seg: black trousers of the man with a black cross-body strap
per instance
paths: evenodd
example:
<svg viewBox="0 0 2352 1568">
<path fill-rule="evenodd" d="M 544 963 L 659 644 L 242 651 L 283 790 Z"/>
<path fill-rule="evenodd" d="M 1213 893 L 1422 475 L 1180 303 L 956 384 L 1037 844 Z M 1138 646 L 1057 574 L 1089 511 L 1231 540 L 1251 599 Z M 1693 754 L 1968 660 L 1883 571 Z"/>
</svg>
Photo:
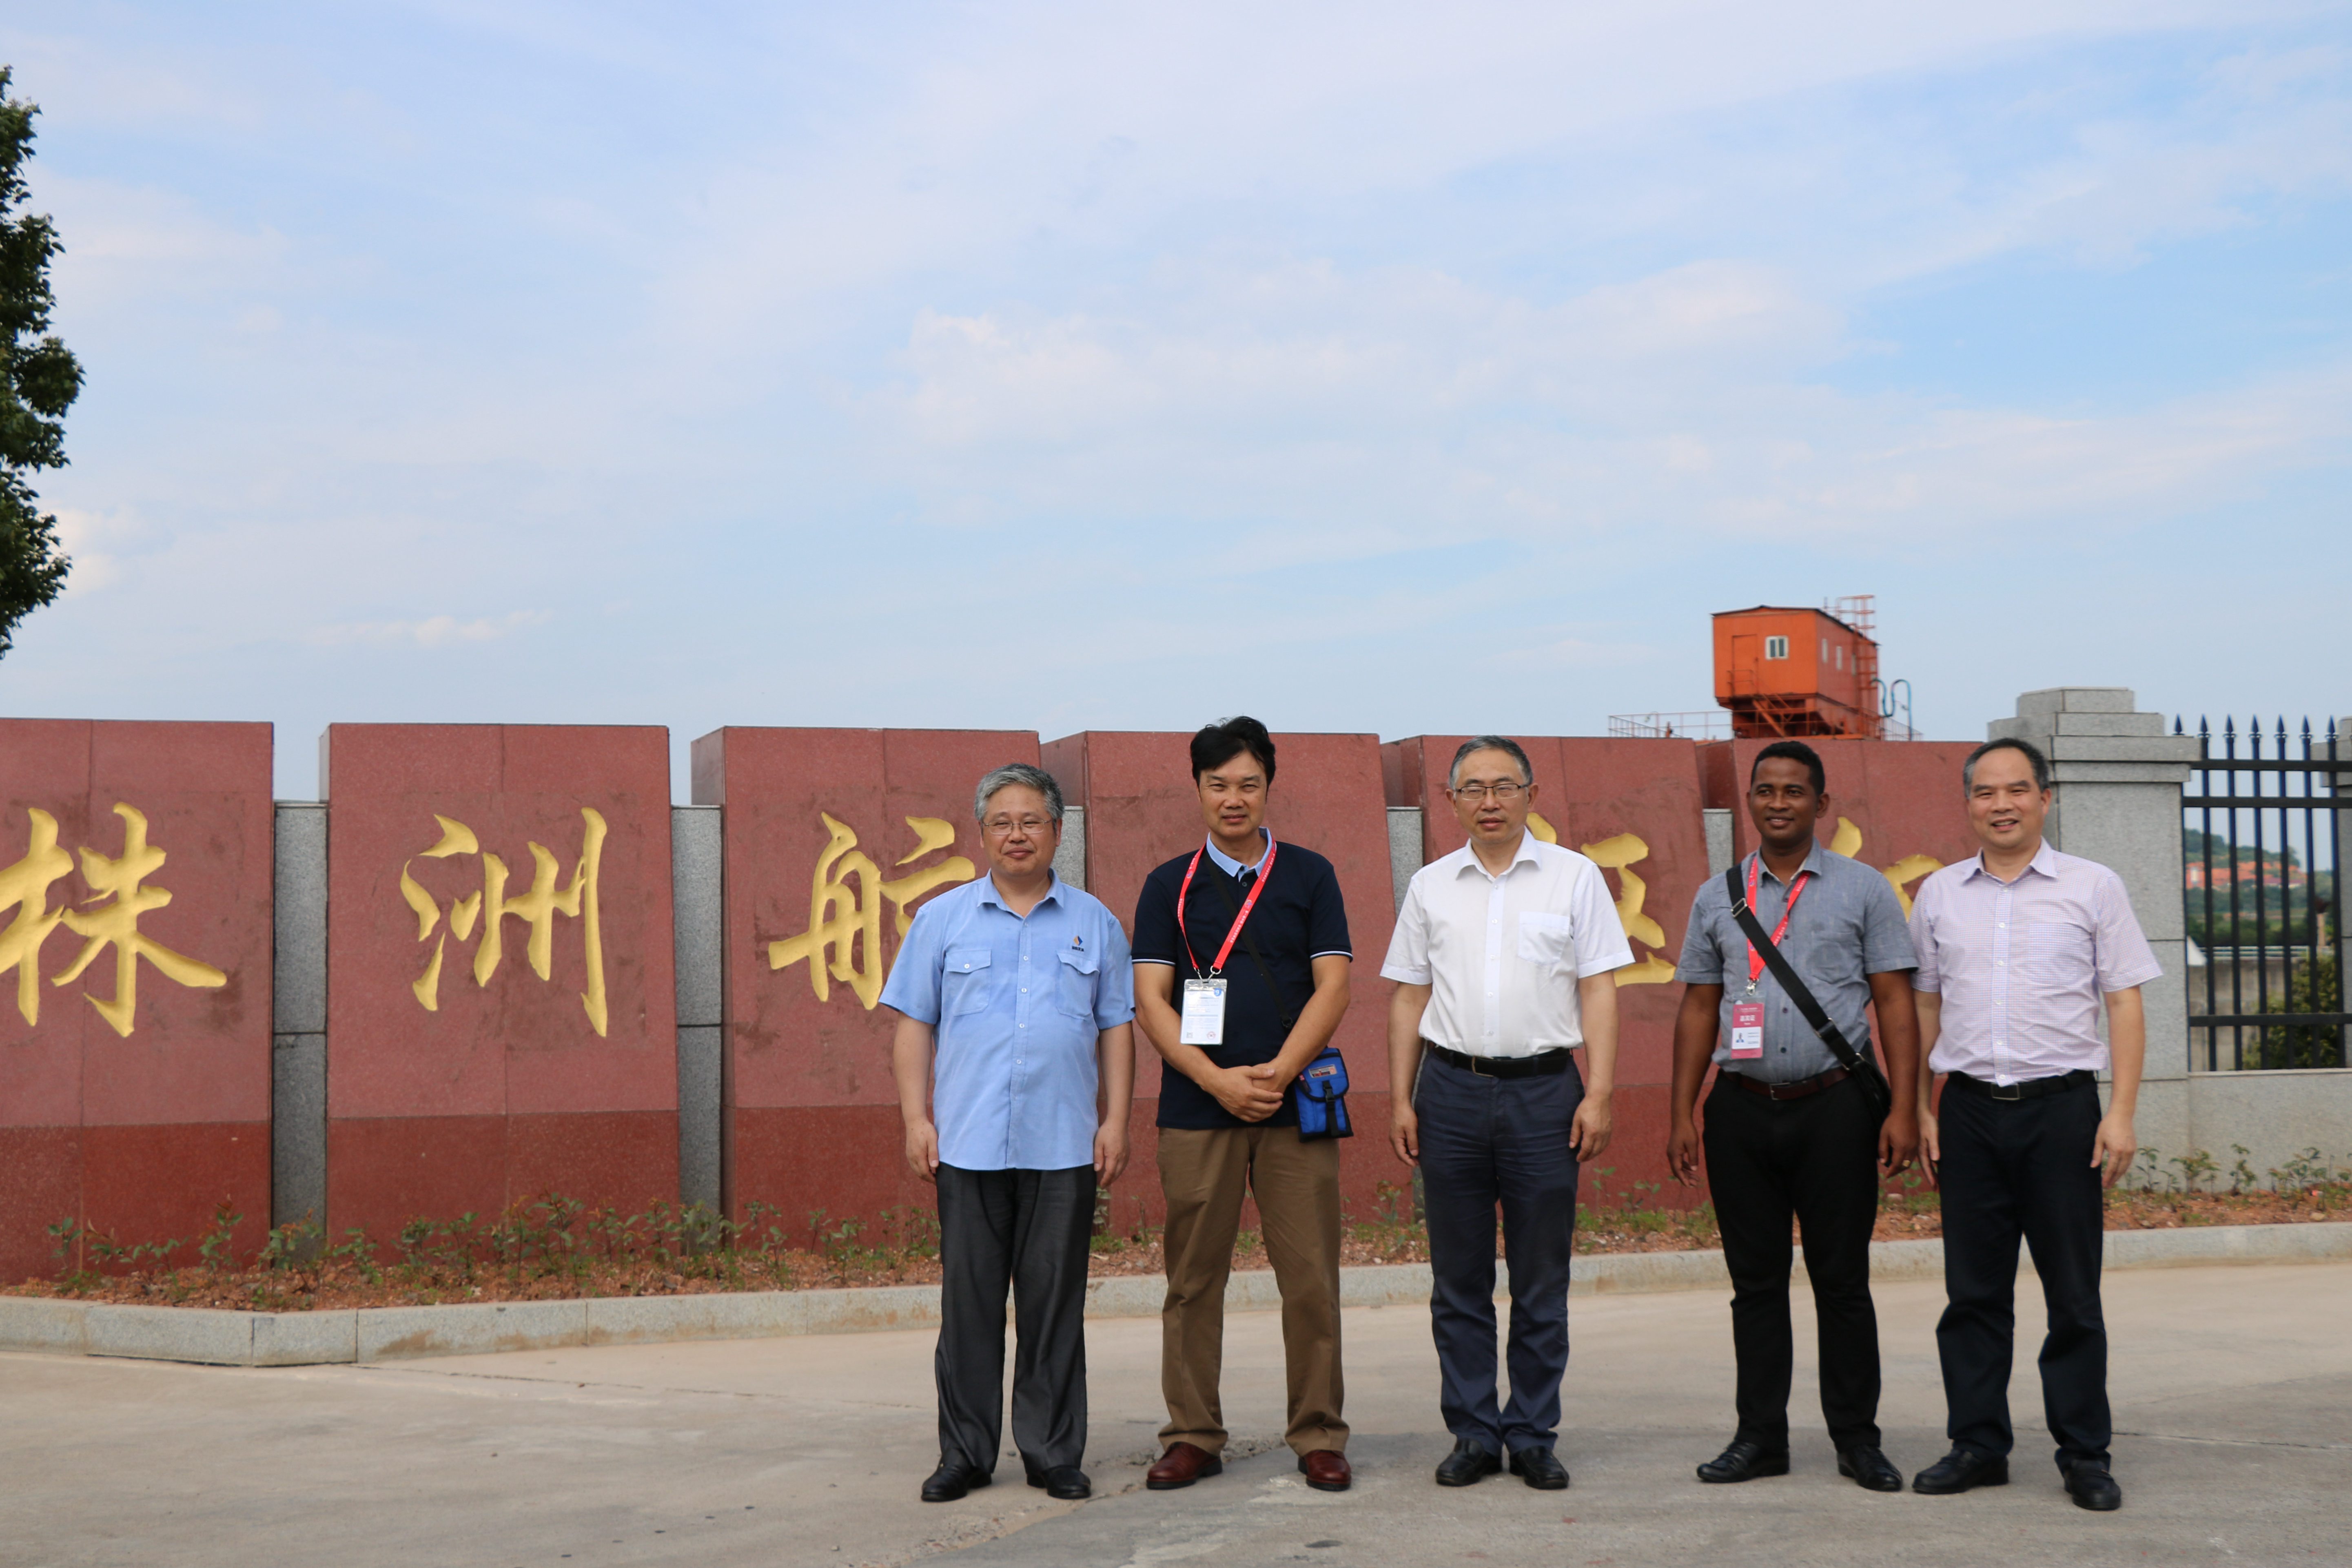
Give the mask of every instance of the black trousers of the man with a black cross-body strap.
<svg viewBox="0 0 2352 1568">
<path fill-rule="evenodd" d="M 1853 1079 L 1802 1100 L 1766 1100 L 1715 1077 L 1708 1187 L 1731 1272 L 1738 1436 L 1788 1448 L 1788 1222 L 1804 1234 L 1820 1347 L 1820 1415 L 1839 1450 L 1879 1446 L 1879 1314 L 1870 1302 L 1870 1229 L 1879 1213 L 1879 1119 Z"/>
</svg>

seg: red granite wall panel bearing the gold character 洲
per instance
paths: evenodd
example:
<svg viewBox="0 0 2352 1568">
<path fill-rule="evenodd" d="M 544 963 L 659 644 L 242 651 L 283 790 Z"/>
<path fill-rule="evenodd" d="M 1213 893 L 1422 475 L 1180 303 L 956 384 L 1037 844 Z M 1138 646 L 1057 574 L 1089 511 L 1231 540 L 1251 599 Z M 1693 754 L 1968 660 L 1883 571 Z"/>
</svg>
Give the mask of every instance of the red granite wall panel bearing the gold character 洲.
<svg viewBox="0 0 2352 1568">
<path fill-rule="evenodd" d="M 327 1225 L 677 1199 L 659 726 L 334 724 Z"/>
</svg>

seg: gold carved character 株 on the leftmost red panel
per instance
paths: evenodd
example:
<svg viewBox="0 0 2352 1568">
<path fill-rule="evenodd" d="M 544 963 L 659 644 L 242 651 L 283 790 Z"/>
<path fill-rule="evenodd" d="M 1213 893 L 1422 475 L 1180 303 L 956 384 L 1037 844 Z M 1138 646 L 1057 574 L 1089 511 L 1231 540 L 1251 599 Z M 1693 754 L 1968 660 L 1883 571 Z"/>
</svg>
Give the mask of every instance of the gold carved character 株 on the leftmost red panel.
<svg viewBox="0 0 2352 1568">
<path fill-rule="evenodd" d="M 99 1011 L 99 1018 L 115 1034 L 139 1027 L 139 961 L 146 959 L 155 973 L 174 985 L 212 990 L 228 985 L 228 976 L 212 964 L 172 952 L 139 929 L 143 914 L 153 914 L 172 903 L 172 891 L 153 886 L 148 877 L 162 870 L 165 851 L 148 844 L 148 820 L 136 806 L 115 802 L 122 818 L 122 853 L 103 856 L 82 846 L 82 882 L 94 893 L 75 910 L 66 903 L 49 905 L 49 889 L 73 870 L 73 858 L 56 846 L 56 818 L 40 809 L 26 809 L 31 818 L 31 842 L 21 860 L 0 870 L 0 910 L 16 910 L 16 917 L 0 931 L 0 973 L 16 971 L 16 1011 L 26 1023 L 40 1023 L 40 945 L 64 924 L 82 938 L 82 952 L 59 973 L 52 985 L 71 985 L 82 978 L 89 964 L 113 947 L 115 994 L 108 999 L 82 997 Z"/>
</svg>

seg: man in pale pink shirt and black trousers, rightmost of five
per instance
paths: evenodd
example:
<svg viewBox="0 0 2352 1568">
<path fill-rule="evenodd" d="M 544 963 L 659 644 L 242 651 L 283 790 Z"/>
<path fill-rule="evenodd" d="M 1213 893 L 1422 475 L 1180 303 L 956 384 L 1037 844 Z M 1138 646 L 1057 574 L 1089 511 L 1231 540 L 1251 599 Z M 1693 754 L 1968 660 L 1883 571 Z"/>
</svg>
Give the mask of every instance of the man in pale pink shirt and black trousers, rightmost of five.
<svg viewBox="0 0 2352 1568">
<path fill-rule="evenodd" d="M 1912 905 L 1919 950 L 1919 1145 L 1943 1185 L 1943 1284 L 1936 1324 L 1952 1453 L 1919 1472 L 1917 1493 L 2009 1481 L 2009 1361 L 2016 1340 L 2018 1237 L 2032 1248 L 2049 1338 L 2042 1410 L 2058 1474 L 2079 1507 L 2114 1509 L 2107 1324 L 2098 1305 L 2105 1244 L 2100 1190 L 2131 1168 L 2147 1020 L 2140 985 L 2161 971 L 2105 865 L 2042 842 L 2049 759 L 2025 741 L 1990 741 L 1962 764 L 1969 825 L 1983 851 L 1926 879 Z M 2107 1001 L 2107 1039 L 2098 1004 Z M 2112 1067 L 2100 1114 L 2098 1072 Z M 1945 1074 L 1943 1117 L 1929 1103 Z"/>
</svg>

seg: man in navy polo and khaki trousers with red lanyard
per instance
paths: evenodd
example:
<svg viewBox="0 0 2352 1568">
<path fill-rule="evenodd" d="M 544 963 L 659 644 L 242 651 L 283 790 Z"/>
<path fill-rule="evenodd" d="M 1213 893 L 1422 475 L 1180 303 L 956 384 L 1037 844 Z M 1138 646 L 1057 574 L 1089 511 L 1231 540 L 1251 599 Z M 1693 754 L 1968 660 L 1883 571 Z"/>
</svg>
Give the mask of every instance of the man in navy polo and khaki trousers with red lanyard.
<svg viewBox="0 0 2352 1568">
<path fill-rule="evenodd" d="M 1345 1490 L 1338 1371 L 1338 1143 L 1298 1135 L 1294 1079 L 1348 1011 L 1348 910 L 1331 863 L 1265 830 L 1275 743 L 1256 719 L 1192 736 L 1209 839 L 1143 882 L 1136 1020 L 1160 1051 L 1167 1307 L 1160 1387 L 1169 1425 L 1152 1490 L 1223 1469 L 1218 1375 L 1225 1276 L 1256 1194 L 1282 1288 L 1289 1446 L 1317 1490 Z"/>
</svg>

